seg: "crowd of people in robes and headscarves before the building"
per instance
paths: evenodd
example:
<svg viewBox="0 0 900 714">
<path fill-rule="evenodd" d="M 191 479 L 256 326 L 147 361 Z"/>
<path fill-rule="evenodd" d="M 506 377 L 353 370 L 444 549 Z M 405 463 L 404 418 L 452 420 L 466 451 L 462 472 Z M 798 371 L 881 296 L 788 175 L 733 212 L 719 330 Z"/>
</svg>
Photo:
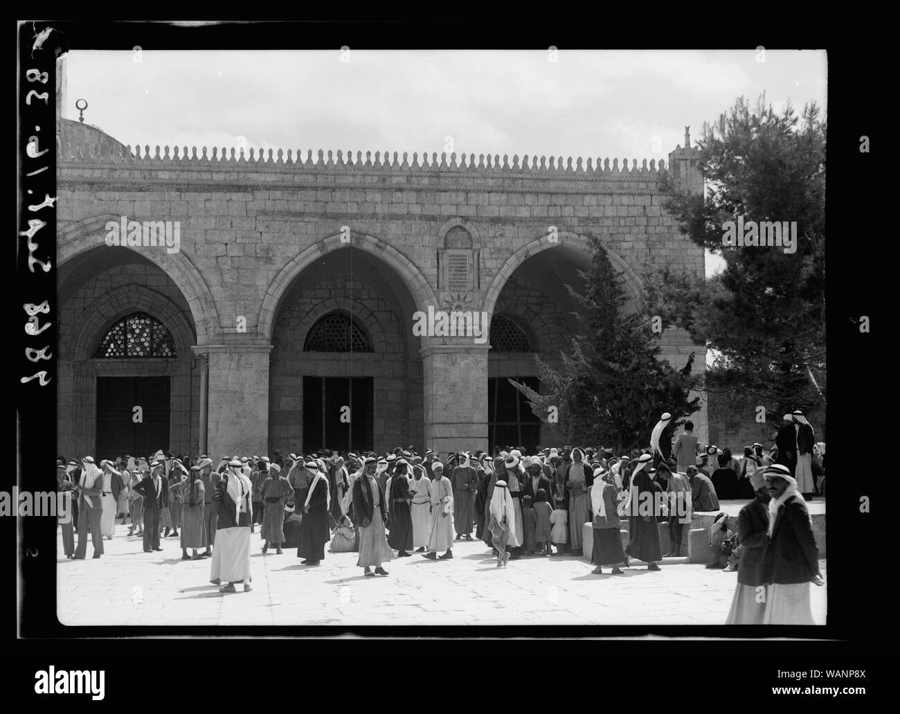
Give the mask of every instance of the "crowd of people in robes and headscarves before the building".
<svg viewBox="0 0 900 714">
<path fill-rule="evenodd" d="M 128 534 L 142 538 L 145 553 L 162 550 L 161 538 L 178 538 L 182 559 L 211 559 L 210 580 L 221 592 L 236 592 L 238 584 L 247 592 L 257 528 L 263 553 L 296 548 L 312 567 L 330 543 L 334 552 L 358 552 L 356 565 L 374 577 L 387 575 L 384 565 L 394 557 L 452 559 L 461 540 L 482 540 L 497 567 L 523 557 L 581 556 L 582 526 L 591 523 L 593 573 L 608 566 L 621 574 L 631 558 L 659 570 L 664 557 L 681 555 L 691 511 L 718 511 L 720 499 L 738 499 L 750 501 L 738 532 L 727 529 L 724 513 L 710 532 L 710 565 L 724 558 L 720 566 L 738 570 L 728 621 L 806 621 L 805 611 L 797 614 L 801 591 L 805 586 L 809 610 L 808 583 L 821 576 L 805 500 L 824 493 L 824 443 L 808 438 L 813 430 L 802 413 L 791 419 L 793 441 L 782 428 L 768 452 L 753 444 L 740 457 L 699 447 L 690 421 L 673 443 L 668 413 L 653 428 L 650 448 L 619 456 L 602 446 L 533 454 L 510 446 L 493 455 L 448 453 L 442 461 L 410 446 L 382 455 L 321 449 L 271 459 L 221 456 L 218 464 L 170 451 L 99 465 L 92 456 L 59 457 L 58 490 L 76 494 L 71 520 L 60 517 L 63 549 L 67 558 L 85 558 L 91 538 L 99 558 L 117 520 L 124 526 L 130 519 Z M 627 547 L 621 520 L 628 522 Z M 665 555 L 661 523 L 671 537 Z"/>
</svg>

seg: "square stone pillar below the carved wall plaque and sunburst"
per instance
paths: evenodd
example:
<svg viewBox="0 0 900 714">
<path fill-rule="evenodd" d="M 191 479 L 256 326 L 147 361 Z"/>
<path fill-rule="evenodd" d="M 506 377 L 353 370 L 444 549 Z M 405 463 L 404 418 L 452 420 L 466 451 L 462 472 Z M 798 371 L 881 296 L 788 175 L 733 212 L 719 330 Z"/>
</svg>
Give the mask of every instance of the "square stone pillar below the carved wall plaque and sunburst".
<svg viewBox="0 0 900 714">
<path fill-rule="evenodd" d="M 425 384 L 425 447 L 488 450 L 488 345 L 419 350 Z"/>
</svg>

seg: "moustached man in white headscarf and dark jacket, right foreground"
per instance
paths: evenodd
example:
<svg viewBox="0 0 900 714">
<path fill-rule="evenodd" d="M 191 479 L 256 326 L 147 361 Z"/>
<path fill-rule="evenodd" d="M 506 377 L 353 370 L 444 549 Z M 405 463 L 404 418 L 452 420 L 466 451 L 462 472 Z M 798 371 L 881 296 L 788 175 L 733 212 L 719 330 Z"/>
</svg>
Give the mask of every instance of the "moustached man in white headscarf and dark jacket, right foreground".
<svg viewBox="0 0 900 714">
<path fill-rule="evenodd" d="M 763 571 L 769 584 L 765 625 L 813 625 L 809 583 L 824 583 L 819 572 L 819 549 L 806 502 L 797 492 L 797 480 L 785 465 L 772 465 L 764 474 L 769 503 L 769 544 Z"/>
</svg>

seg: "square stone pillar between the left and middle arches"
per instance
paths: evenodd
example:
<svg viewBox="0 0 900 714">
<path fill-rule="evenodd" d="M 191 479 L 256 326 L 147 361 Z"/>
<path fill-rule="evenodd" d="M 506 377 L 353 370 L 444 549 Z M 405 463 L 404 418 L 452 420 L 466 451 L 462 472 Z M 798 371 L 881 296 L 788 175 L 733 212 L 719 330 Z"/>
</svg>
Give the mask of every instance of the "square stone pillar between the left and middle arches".
<svg viewBox="0 0 900 714">
<path fill-rule="evenodd" d="M 213 461 L 235 454 L 266 454 L 272 345 L 235 341 L 193 350 L 209 361 L 206 453 Z"/>
</svg>

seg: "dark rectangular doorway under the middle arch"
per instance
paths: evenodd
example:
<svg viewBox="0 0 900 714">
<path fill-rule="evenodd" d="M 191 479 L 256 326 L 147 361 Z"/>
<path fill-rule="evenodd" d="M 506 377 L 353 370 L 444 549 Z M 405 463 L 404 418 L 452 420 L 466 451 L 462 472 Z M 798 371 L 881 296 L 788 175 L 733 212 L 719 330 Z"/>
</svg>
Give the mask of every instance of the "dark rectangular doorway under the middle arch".
<svg viewBox="0 0 900 714">
<path fill-rule="evenodd" d="M 303 451 L 372 448 L 373 390 L 372 377 L 303 377 Z"/>
</svg>

